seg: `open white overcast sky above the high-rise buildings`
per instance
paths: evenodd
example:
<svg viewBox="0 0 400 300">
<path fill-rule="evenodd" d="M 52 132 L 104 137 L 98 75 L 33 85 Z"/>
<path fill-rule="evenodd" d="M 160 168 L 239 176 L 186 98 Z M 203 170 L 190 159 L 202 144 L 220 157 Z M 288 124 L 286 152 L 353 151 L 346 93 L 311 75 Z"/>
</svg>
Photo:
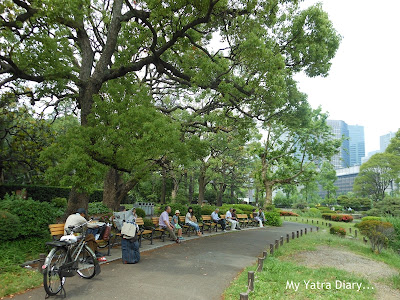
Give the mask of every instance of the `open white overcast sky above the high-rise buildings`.
<svg viewBox="0 0 400 300">
<path fill-rule="evenodd" d="M 329 119 L 364 126 L 366 154 L 400 128 L 399 0 L 305 0 L 322 3 L 342 42 L 329 76 L 296 76 L 311 106 Z"/>
</svg>

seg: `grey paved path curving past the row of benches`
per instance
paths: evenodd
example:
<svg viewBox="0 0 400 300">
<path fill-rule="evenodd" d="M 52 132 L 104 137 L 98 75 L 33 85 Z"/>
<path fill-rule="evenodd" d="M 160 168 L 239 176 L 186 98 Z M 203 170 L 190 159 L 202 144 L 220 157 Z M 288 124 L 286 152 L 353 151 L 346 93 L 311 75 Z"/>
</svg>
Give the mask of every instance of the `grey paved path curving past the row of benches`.
<svg viewBox="0 0 400 300">
<path fill-rule="evenodd" d="M 67 278 L 67 299 L 220 299 L 267 245 L 305 227 L 311 226 L 285 222 L 282 227 L 228 232 L 180 245 L 166 241 L 164 247 L 142 252 L 139 264 L 123 265 L 117 260 L 103 264 L 101 274 L 91 280 Z M 44 296 L 42 287 L 14 299 L 42 300 Z"/>
</svg>

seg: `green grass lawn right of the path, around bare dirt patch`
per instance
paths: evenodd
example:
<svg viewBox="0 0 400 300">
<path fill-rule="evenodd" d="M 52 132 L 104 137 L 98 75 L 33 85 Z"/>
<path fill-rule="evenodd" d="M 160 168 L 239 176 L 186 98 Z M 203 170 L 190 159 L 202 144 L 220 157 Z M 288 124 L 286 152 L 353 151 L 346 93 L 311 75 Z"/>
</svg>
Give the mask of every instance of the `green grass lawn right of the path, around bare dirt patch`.
<svg viewBox="0 0 400 300">
<path fill-rule="evenodd" d="M 299 219 L 299 218 L 298 218 Z M 301 217 L 300 217 L 301 219 Z M 311 218 L 308 218 L 311 220 Z M 286 217 L 288 220 L 288 217 Z M 324 222 L 325 223 L 325 222 Z M 351 224 L 346 224 L 351 226 Z M 327 229 L 328 227 L 322 229 Z M 375 254 L 370 250 L 369 245 L 364 245 L 360 240 L 340 238 L 330 235 L 327 231 L 310 233 L 303 237 L 284 244 L 273 256 L 268 256 L 264 262 L 262 272 L 256 272 L 255 290 L 249 294 L 249 299 L 371 299 L 375 290 L 373 284 L 361 276 L 350 272 L 335 269 L 335 266 L 319 269 L 308 268 L 297 265 L 290 260 L 290 256 L 300 251 L 315 251 L 318 246 L 329 245 L 340 247 L 342 250 L 349 250 L 368 258 L 385 262 L 386 264 L 400 270 L 399 256 L 391 250 L 384 250 L 381 254 Z M 225 290 L 225 299 L 239 299 L 240 293 L 247 291 L 247 272 L 254 271 L 256 266 L 250 266 Z M 362 284 L 365 289 L 336 288 L 336 280 L 341 282 L 354 282 Z M 295 287 L 290 283 L 299 284 Z M 289 282 L 289 285 L 288 285 Z M 306 283 L 308 282 L 308 285 Z M 319 282 L 318 289 L 317 283 Z M 385 279 L 385 283 L 391 288 L 399 289 L 399 276 Z M 314 283 L 314 286 L 312 286 Z M 325 283 L 322 287 L 321 283 Z M 330 284 L 330 286 L 328 285 Z M 313 289 L 313 287 L 315 289 Z M 338 287 L 340 287 L 338 285 Z M 370 289 L 368 289 L 370 287 Z"/>
</svg>

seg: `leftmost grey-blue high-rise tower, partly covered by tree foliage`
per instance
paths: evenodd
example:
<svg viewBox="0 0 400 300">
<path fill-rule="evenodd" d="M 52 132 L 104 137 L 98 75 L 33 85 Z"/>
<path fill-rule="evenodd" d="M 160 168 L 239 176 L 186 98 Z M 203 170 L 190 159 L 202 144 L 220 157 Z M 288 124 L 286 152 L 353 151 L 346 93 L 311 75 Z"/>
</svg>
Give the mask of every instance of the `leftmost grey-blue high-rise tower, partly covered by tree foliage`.
<svg viewBox="0 0 400 300">
<path fill-rule="evenodd" d="M 342 142 L 339 153 L 332 157 L 331 163 L 335 169 L 348 168 L 350 166 L 348 125 L 346 122 L 340 120 L 327 120 L 327 124 L 332 128 L 333 138 L 345 138 Z"/>
</svg>

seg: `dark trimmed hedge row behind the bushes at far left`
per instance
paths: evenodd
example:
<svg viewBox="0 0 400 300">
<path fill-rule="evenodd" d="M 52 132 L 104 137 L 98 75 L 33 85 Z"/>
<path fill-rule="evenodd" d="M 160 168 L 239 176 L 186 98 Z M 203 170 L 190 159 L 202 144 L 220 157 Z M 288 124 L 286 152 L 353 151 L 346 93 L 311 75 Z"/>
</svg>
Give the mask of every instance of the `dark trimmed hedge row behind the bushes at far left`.
<svg viewBox="0 0 400 300">
<path fill-rule="evenodd" d="M 4 184 L 0 185 L 0 199 L 6 194 L 11 195 L 18 190 L 26 190 L 27 197 L 40 202 L 51 202 L 54 198 L 67 198 L 71 188 L 42 185 L 23 185 L 23 184 Z M 103 201 L 103 190 L 94 191 L 89 198 L 89 202 Z"/>
</svg>

